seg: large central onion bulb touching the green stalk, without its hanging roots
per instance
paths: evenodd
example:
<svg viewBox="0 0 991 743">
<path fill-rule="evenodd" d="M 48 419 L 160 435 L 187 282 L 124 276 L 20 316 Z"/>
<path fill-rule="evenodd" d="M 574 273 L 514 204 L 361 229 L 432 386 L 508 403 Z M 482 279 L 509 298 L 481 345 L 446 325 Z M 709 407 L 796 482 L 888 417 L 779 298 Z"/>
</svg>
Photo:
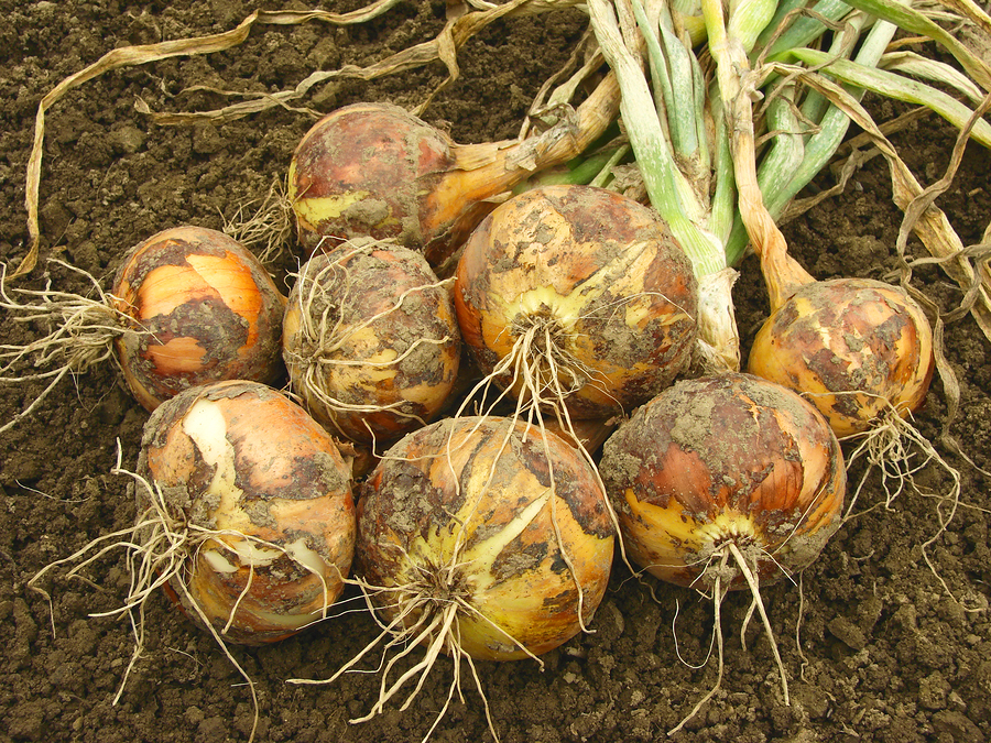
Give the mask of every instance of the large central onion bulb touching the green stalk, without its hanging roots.
<svg viewBox="0 0 991 743">
<path fill-rule="evenodd" d="M 455 307 L 486 374 L 527 327 L 545 324 L 558 369 L 584 379 L 565 400 L 570 415 L 606 418 L 646 402 L 687 367 L 697 294 L 688 259 L 653 210 L 601 188 L 545 186 L 500 205 L 471 233 Z M 497 382 L 522 392 L 519 379 Z"/>
</svg>

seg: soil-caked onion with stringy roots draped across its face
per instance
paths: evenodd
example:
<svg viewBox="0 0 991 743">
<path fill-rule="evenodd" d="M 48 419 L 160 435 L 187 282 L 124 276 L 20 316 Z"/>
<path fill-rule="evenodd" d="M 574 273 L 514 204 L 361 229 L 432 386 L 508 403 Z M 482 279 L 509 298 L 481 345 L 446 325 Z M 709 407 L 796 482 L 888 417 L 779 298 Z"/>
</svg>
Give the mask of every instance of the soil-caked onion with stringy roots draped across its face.
<svg viewBox="0 0 991 743">
<path fill-rule="evenodd" d="M 324 317 L 329 336 L 319 332 Z M 311 415 L 371 444 L 437 414 L 454 389 L 461 339 L 450 291 L 422 254 L 390 243 L 347 243 L 314 254 L 300 271 L 282 348 L 293 390 Z"/>
</svg>

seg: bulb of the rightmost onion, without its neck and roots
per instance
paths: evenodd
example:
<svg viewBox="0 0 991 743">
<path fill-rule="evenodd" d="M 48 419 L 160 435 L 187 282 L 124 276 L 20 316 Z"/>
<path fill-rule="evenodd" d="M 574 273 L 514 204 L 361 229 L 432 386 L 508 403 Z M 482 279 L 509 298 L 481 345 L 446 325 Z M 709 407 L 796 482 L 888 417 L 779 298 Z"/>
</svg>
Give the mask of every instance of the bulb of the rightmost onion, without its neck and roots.
<svg viewBox="0 0 991 743">
<path fill-rule="evenodd" d="M 748 371 L 806 396 L 840 438 L 891 405 L 918 409 L 933 379 L 933 330 L 904 291 L 870 278 L 799 287 L 754 338 Z"/>
</svg>

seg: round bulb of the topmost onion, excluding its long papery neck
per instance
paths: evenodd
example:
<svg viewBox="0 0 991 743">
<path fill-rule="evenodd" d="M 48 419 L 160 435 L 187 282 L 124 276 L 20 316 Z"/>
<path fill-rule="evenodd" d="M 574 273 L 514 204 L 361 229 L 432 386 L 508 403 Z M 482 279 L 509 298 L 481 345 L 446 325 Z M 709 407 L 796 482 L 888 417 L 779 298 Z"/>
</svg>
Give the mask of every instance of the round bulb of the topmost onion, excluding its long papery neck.
<svg viewBox="0 0 991 743">
<path fill-rule="evenodd" d="M 454 165 L 450 139 L 399 106 L 355 103 L 306 132 L 290 163 L 300 243 L 369 236 L 422 249 L 436 237 L 429 203 Z"/>
</svg>

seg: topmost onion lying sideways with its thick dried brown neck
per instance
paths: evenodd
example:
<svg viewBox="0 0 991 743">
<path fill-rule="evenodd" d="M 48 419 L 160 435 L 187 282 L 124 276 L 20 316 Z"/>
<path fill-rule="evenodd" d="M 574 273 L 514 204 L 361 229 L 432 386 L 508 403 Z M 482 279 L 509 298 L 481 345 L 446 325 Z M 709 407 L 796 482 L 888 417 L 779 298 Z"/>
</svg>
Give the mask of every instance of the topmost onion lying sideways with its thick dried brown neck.
<svg viewBox="0 0 991 743">
<path fill-rule="evenodd" d="M 323 238 L 392 238 L 446 264 L 478 221 L 529 175 L 581 153 L 617 107 L 611 76 L 571 118 L 522 141 L 456 144 L 390 103 L 356 103 L 303 136 L 287 196 L 301 244 Z"/>
</svg>

